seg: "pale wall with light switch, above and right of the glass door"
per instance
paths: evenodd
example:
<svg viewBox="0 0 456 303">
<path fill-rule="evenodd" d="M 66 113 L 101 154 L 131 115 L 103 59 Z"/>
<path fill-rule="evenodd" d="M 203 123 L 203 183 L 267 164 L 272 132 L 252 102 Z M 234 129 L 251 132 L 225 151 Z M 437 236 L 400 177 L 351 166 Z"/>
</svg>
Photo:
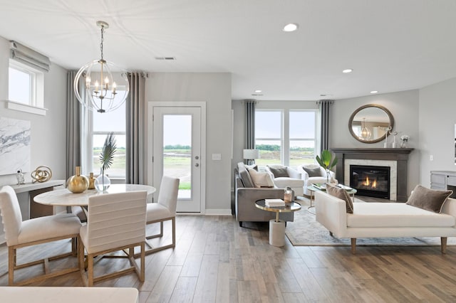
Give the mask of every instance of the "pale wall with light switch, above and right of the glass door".
<svg viewBox="0 0 456 303">
<path fill-rule="evenodd" d="M 150 73 L 145 90 L 147 102 L 206 102 L 206 211 L 231 213 L 231 74 Z"/>
</svg>

